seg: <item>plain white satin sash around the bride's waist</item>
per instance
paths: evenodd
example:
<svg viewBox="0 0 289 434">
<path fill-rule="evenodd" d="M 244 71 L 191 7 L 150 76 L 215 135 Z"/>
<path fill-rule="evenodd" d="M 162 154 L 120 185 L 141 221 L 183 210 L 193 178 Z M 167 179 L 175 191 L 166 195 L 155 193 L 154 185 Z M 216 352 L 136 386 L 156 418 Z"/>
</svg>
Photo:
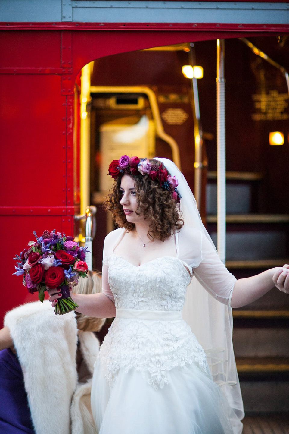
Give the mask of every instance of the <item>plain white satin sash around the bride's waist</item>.
<svg viewBox="0 0 289 434">
<path fill-rule="evenodd" d="M 116 309 L 116 318 L 149 319 L 151 321 L 178 321 L 182 312 L 163 310 Z"/>
</svg>

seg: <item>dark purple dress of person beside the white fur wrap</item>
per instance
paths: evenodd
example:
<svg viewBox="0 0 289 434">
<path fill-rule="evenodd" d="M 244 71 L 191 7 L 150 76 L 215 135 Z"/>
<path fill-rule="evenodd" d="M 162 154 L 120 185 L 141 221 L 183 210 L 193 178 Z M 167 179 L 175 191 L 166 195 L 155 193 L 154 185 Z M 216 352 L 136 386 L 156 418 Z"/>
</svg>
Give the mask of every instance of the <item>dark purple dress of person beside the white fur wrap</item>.
<svg viewBox="0 0 289 434">
<path fill-rule="evenodd" d="M 35 434 L 16 354 L 0 351 L 0 434 Z"/>
</svg>

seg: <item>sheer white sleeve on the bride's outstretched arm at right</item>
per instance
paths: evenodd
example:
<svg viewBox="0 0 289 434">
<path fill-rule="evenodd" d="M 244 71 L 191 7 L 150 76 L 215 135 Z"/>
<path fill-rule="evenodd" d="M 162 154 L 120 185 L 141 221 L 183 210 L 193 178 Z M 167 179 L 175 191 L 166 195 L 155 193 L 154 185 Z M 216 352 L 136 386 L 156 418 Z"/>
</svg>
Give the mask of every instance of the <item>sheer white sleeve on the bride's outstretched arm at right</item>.
<svg viewBox="0 0 289 434">
<path fill-rule="evenodd" d="M 197 229 L 183 228 L 179 235 L 179 258 L 199 283 L 223 304 L 229 305 L 236 278 L 227 270 L 210 241 Z"/>
</svg>

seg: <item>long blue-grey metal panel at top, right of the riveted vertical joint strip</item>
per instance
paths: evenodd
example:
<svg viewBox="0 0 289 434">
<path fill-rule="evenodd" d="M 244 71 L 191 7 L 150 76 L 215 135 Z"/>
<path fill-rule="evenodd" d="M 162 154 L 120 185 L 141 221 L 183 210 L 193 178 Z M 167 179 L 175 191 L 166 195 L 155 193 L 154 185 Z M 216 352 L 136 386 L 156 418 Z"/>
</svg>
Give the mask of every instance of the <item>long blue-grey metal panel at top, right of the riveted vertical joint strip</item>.
<svg viewBox="0 0 289 434">
<path fill-rule="evenodd" d="M 75 0 L 74 22 L 289 23 L 287 3 Z"/>
</svg>

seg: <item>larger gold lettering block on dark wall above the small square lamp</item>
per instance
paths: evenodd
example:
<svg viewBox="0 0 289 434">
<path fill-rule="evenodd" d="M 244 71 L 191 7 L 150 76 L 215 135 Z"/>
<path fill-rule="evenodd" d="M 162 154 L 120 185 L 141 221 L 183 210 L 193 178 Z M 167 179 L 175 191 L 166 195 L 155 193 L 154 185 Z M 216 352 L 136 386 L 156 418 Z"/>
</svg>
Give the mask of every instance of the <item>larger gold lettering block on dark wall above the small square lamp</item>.
<svg viewBox="0 0 289 434">
<path fill-rule="evenodd" d="M 252 114 L 253 121 L 284 121 L 289 119 L 288 93 L 278 93 L 270 90 L 268 93 L 253 94 L 256 113 Z"/>
</svg>

